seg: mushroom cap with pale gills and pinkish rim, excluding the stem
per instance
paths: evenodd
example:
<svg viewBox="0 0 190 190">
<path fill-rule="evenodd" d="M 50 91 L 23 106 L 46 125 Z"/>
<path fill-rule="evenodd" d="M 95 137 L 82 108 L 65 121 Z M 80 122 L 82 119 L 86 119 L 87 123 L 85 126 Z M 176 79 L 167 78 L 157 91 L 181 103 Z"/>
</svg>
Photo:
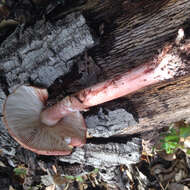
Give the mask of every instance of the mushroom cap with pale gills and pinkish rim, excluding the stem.
<svg viewBox="0 0 190 190">
<path fill-rule="evenodd" d="M 40 120 L 47 90 L 20 86 L 4 104 L 4 122 L 10 135 L 24 148 L 43 155 L 68 155 L 86 141 L 86 125 L 79 111 L 68 113 L 54 126 Z"/>
</svg>

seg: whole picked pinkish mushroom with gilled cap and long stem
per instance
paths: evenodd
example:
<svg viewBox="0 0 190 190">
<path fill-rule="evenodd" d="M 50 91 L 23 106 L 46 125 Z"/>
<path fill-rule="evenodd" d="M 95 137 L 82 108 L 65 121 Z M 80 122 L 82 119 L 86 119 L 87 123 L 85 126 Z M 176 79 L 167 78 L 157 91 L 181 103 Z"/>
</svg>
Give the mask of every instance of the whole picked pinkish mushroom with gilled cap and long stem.
<svg viewBox="0 0 190 190">
<path fill-rule="evenodd" d="M 4 121 L 10 134 L 22 146 L 39 154 L 67 155 L 82 146 L 86 125 L 80 111 L 171 79 L 183 72 L 183 62 L 167 45 L 153 61 L 121 76 L 109 79 L 65 97 L 45 109 L 47 91 L 21 86 L 8 96 Z"/>
</svg>

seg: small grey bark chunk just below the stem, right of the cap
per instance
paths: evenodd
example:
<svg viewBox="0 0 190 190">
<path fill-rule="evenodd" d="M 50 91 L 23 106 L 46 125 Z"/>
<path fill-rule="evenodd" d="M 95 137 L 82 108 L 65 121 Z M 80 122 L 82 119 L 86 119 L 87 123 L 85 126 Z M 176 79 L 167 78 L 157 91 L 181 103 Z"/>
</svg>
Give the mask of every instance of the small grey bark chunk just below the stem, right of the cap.
<svg viewBox="0 0 190 190">
<path fill-rule="evenodd" d="M 97 114 L 87 116 L 85 121 L 92 137 L 110 137 L 137 124 L 133 115 L 123 108 L 113 111 L 100 108 Z"/>
</svg>

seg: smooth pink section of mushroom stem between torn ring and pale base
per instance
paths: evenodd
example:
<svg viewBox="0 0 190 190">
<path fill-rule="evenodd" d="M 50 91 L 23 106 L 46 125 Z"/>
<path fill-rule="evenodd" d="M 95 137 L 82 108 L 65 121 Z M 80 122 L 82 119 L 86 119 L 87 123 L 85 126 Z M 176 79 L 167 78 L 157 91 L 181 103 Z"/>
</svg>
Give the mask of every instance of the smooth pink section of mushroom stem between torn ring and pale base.
<svg viewBox="0 0 190 190">
<path fill-rule="evenodd" d="M 94 85 L 77 93 L 85 108 L 125 96 L 141 88 L 159 82 L 154 77 L 154 68 L 149 65 L 137 67 L 121 76 Z"/>
</svg>

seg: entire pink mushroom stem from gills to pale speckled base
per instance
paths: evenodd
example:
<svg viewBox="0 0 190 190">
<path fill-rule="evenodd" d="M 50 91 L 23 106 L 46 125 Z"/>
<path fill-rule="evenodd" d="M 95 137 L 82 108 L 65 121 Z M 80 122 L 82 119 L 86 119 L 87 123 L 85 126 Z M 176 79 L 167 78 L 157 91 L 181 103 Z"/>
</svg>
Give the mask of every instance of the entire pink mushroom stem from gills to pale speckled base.
<svg viewBox="0 0 190 190">
<path fill-rule="evenodd" d="M 139 89 L 160 81 L 173 78 L 182 67 L 178 56 L 169 54 L 171 46 L 167 46 L 152 62 L 140 65 L 123 75 L 98 83 L 64 98 L 54 106 L 41 113 L 41 121 L 46 125 L 54 125 L 66 114 L 108 102 L 128 95 Z"/>
</svg>

